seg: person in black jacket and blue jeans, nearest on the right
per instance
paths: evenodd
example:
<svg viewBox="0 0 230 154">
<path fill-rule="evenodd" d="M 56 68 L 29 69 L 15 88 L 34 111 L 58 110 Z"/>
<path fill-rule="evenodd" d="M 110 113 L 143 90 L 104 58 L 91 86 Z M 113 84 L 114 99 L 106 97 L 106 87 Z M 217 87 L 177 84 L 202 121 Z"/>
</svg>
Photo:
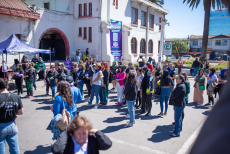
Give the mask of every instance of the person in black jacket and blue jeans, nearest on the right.
<svg viewBox="0 0 230 154">
<path fill-rule="evenodd" d="M 180 131 L 182 131 L 182 112 L 184 111 L 186 105 L 186 87 L 184 84 L 185 78 L 183 75 L 178 75 L 176 78 L 176 88 L 174 89 L 171 97 L 170 104 L 174 106 L 174 119 L 175 119 L 175 130 L 172 137 L 179 137 Z"/>
</svg>

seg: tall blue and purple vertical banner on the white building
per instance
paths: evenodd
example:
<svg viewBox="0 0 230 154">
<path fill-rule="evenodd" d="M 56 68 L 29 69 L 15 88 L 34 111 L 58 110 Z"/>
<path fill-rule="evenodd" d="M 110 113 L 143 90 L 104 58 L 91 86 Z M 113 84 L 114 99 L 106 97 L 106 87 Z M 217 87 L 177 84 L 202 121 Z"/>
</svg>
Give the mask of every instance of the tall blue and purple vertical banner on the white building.
<svg viewBox="0 0 230 154">
<path fill-rule="evenodd" d="M 122 57 L 122 22 L 110 19 L 110 45 L 114 61 L 120 61 Z"/>
</svg>

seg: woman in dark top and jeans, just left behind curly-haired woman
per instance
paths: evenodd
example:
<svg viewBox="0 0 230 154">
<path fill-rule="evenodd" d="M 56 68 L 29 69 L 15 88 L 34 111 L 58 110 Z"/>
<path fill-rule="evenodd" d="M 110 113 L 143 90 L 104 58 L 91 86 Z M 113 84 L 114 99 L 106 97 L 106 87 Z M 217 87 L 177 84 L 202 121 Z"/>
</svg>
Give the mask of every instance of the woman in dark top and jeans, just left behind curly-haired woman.
<svg viewBox="0 0 230 154">
<path fill-rule="evenodd" d="M 51 99 L 54 101 L 55 100 L 55 89 L 57 86 L 57 83 L 55 81 L 56 81 L 58 72 L 56 71 L 55 66 L 51 65 L 50 68 L 51 68 L 51 70 L 47 73 L 47 77 L 49 79 L 50 89 L 52 92 Z"/>
</svg>

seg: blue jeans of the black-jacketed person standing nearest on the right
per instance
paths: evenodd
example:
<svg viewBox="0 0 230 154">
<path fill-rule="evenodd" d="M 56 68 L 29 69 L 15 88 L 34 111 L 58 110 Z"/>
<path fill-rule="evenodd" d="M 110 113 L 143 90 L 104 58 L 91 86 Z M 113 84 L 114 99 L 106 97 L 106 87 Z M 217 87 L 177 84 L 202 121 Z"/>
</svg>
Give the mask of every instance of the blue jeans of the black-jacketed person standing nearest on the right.
<svg viewBox="0 0 230 154">
<path fill-rule="evenodd" d="M 175 119 L 175 130 L 174 134 L 180 136 L 180 131 L 182 131 L 182 112 L 185 107 L 174 106 L 174 119 Z"/>
</svg>

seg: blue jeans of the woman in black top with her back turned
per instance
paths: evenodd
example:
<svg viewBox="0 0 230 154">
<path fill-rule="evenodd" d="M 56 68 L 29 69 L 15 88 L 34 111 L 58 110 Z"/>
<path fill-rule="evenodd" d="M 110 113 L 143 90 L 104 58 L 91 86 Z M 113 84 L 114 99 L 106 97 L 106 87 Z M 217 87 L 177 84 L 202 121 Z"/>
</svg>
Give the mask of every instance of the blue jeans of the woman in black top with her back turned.
<svg viewBox="0 0 230 154">
<path fill-rule="evenodd" d="M 165 112 L 167 112 L 169 96 L 170 96 L 170 88 L 162 88 L 161 95 L 160 95 L 161 112 L 164 111 L 164 104 L 163 104 L 164 101 L 165 101 Z"/>
</svg>

